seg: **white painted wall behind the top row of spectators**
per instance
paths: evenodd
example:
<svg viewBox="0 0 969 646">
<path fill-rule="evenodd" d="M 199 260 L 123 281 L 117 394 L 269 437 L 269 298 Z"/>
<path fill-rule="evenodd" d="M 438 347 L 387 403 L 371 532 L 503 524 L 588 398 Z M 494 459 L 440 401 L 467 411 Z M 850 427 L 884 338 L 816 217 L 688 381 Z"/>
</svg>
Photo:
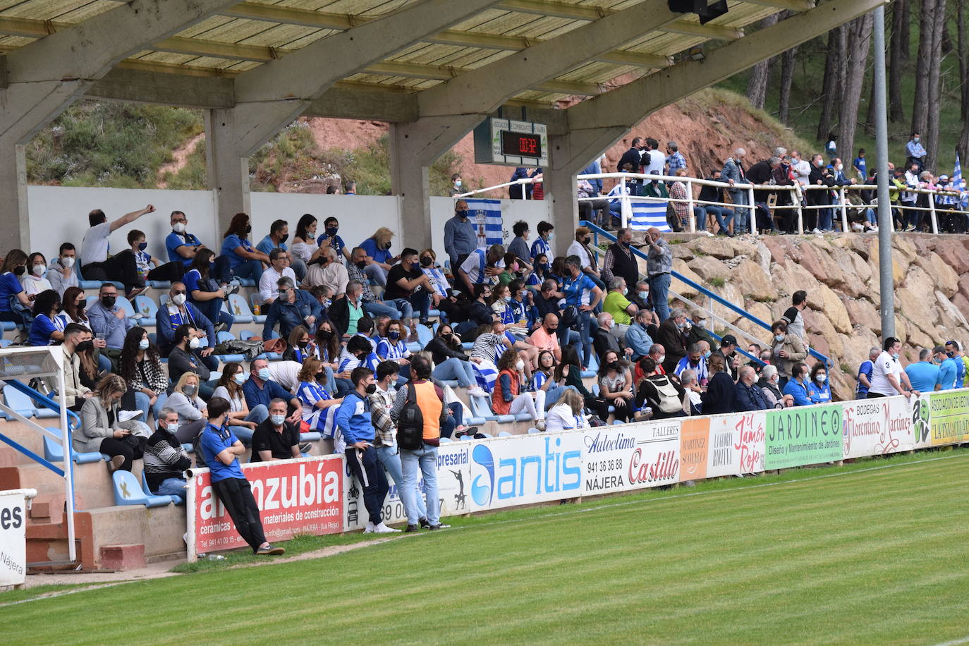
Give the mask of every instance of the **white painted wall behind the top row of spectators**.
<svg viewBox="0 0 969 646">
<path fill-rule="evenodd" d="M 155 212 L 141 216 L 128 227 L 114 231 L 110 237 L 112 252 L 127 248 L 128 231 L 144 231 L 148 251 L 152 256 L 168 260 L 165 236 L 172 229 L 169 216 L 173 210 L 184 211 L 188 218 L 188 231 L 199 236 L 212 249 L 221 247 L 222 233 L 218 231 L 215 200 L 210 191 L 168 191 L 150 189 L 71 188 L 60 186 L 28 186 L 30 210 L 30 239 L 32 249 L 43 253 L 48 261 L 56 257 L 62 242 L 73 242 L 80 247 L 84 231 L 88 229 L 87 214 L 100 208 L 109 220 L 138 210 L 146 204 L 154 204 Z M 269 224 L 282 218 L 290 223 L 290 239 L 296 233 L 299 217 L 312 213 L 319 221 L 330 215 L 340 221 L 340 236 L 351 247 L 359 245 L 379 227 L 387 227 L 396 235 L 391 250 L 399 253 L 402 248 L 400 226 L 400 199 L 396 196 L 332 196 L 303 195 L 296 193 L 252 193 L 252 241 L 258 243 L 269 231 Z M 453 198 L 431 198 L 431 244 L 444 256 L 444 224 L 453 217 Z M 532 236 L 538 235 L 538 223 L 550 221 L 550 202 L 544 200 L 501 200 L 504 221 L 504 237 L 507 244 L 512 240 L 512 225 L 524 220 L 531 228 Z M 0 250 L 2 252 L 4 250 Z M 420 250 L 419 250 L 420 251 Z M 446 258 L 446 257 L 445 257 Z M 440 258 L 444 261 L 444 258 Z"/>
</svg>

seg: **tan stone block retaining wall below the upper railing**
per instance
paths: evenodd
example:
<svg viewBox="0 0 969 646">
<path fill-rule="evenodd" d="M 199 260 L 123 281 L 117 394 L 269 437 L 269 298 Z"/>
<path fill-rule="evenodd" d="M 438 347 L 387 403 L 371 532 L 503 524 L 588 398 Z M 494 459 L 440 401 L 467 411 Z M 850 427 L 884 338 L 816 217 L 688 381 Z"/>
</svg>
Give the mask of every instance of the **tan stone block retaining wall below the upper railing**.
<svg viewBox="0 0 969 646">
<path fill-rule="evenodd" d="M 831 359 L 835 397 L 854 398 L 860 362 L 882 345 L 877 234 L 693 240 L 670 234 L 668 240 L 674 270 L 767 323 L 780 318 L 792 293 L 806 291 L 809 343 Z M 921 348 L 969 341 L 969 236 L 896 233 L 891 253 L 903 363 L 918 360 Z M 705 304 L 705 296 L 681 281 L 673 280 L 671 289 Z M 714 313 L 762 344 L 770 339 L 768 330 L 726 307 L 716 305 Z M 714 324 L 718 333 L 722 327 Z"/>
</svg>

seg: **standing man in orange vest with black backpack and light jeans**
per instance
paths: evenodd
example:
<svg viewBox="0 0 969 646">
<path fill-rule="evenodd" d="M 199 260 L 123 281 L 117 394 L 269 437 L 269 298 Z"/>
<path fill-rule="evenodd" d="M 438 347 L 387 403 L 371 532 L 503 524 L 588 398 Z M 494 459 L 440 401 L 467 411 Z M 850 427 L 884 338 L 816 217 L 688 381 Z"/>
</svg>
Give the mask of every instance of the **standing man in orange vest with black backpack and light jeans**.
<svg viewBox="0 0 969 646">
<path fill-rule="evenodd" d="M 428 530 L 447 529 L 450 525 L 441 524 L 441 507 L 437 489 L 437 447 L 441 445 L 442 420 L 451 415 L 451 411 L 444 405 L 444 392 L 438 385 L 429 381 L 430 361 L 423 356 L 415 357 L 413 376 L 412 382 L 400 386 L 397 390 L 391 409 L 391 419 L 399 424 L 404 405 L 413 391 L 413 401 L 417 403 L 423 420 L 421 448 L 400 448 L 400 468 L 403 475 L 400 498 L 407 512 L 407 531 L 417 531 L 421 526 L 422 517 L 427 519 Z M 416 500 L 419 468 L 426 495 L 425 505 L 419 504 Z"/>
</svg>

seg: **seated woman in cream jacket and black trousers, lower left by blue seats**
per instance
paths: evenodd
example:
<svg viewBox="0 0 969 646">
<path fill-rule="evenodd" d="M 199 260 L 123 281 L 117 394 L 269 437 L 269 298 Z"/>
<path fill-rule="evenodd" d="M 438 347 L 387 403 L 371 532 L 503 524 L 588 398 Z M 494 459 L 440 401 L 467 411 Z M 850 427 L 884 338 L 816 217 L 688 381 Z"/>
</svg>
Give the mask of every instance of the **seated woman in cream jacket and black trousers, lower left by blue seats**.
<svg viewBox="0 0 969 646">
<path fill-rule="evenodd" d="M 117 375 L 108 374 L 98 382 L 95 394 L 80 407 L 80 428 L 72 436 L 74 450 L 100 452 L 109 456 L 108 470 L 131 471 L 140 460 L 149 429 L 136 419 L 121 421 L 118 403 L 127 386 Z"/>
</svg>

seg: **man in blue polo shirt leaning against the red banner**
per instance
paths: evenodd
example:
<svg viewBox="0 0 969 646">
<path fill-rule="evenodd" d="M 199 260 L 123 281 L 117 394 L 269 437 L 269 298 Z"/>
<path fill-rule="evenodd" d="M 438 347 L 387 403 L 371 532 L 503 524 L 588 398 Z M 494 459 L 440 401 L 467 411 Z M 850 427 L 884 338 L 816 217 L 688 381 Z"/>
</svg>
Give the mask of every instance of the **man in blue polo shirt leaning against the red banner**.
<svg viewBox="0 0 969 646">
<path fill-rule="evenodd" d="M 208 401 L 208 424 L 202 431 L 199 444 L 212 480 L 212 491 L 229 512 L 235 531 L 252 547 L 253 554 L 285 554 L 286 549 L 273 547 L 266 540 L 259 507 L 252 497 L 249 480 L 239 466 L 238 456 L 245 452 L 245 446 L 226 425 L 228 413 L 228 400 L 212 397 Z"/>
</svg>

